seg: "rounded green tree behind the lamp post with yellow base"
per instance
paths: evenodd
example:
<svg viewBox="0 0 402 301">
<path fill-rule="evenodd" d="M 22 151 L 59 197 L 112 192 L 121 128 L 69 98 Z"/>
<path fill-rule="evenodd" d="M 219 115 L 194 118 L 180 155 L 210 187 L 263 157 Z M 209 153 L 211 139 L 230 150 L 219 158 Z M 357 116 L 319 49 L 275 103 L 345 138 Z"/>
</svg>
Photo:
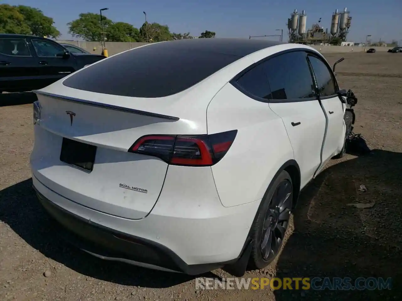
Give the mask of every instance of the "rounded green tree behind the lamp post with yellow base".
<svg viewBox="0 0 402 301">
<path fill-rule="evenodd" d="M 108 27 L 113 22 L 105 16 L 102 16 L 102 23 L 106 33 Z M 68 22 L 67 26 L 69 29 L 68 33 L 74 37 L 80 37 L 85 41 L 103 41 L 100 14 L 94 14 L 92 12 L 82 13 L 78 19 Z"/>
</svg>

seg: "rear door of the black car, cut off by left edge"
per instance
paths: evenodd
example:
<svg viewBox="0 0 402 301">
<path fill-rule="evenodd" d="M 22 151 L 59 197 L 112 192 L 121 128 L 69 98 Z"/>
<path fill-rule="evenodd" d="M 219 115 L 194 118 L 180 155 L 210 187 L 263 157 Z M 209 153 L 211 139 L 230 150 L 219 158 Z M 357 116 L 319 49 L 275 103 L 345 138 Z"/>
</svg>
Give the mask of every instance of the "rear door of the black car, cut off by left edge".
<svg viewBox="0 0 402 301">
<path fill-rule="evenodd" d="M 35 88 L 37 70 L 27 41 L 0 38 L 0 91 L 25 91 Z"/>
</svg>

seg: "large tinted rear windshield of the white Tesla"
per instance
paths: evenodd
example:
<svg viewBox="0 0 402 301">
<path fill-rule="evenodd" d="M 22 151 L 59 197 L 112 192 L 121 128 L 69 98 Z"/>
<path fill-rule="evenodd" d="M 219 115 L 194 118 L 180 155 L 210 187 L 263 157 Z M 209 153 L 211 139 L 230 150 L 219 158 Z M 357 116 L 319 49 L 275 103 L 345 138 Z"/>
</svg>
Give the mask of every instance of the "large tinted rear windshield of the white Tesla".
<svg viewBox="0 0 402 301">
<path fill-rule="evenodd" d="M 186 47 L 185 43 L 164 42 L 100 61 L 63 84 L 102 94 L 164 97 L 195 85 L 240 58 L 213 49 Z"/>
</svg>

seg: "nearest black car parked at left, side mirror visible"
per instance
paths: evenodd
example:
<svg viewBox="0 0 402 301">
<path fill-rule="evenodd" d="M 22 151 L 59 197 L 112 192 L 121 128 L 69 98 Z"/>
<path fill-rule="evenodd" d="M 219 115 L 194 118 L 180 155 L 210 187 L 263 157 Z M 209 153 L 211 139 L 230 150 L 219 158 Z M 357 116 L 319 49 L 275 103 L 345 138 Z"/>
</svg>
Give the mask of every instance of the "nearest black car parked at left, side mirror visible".
<svg viewBox="0 0 402 301">
<path fill-rule="evenodd" d="M 59 43 L 42 37 L 0 34 L 0 92 L 41 89 L 104 58 L 71 53 Z"/>
</svg>

